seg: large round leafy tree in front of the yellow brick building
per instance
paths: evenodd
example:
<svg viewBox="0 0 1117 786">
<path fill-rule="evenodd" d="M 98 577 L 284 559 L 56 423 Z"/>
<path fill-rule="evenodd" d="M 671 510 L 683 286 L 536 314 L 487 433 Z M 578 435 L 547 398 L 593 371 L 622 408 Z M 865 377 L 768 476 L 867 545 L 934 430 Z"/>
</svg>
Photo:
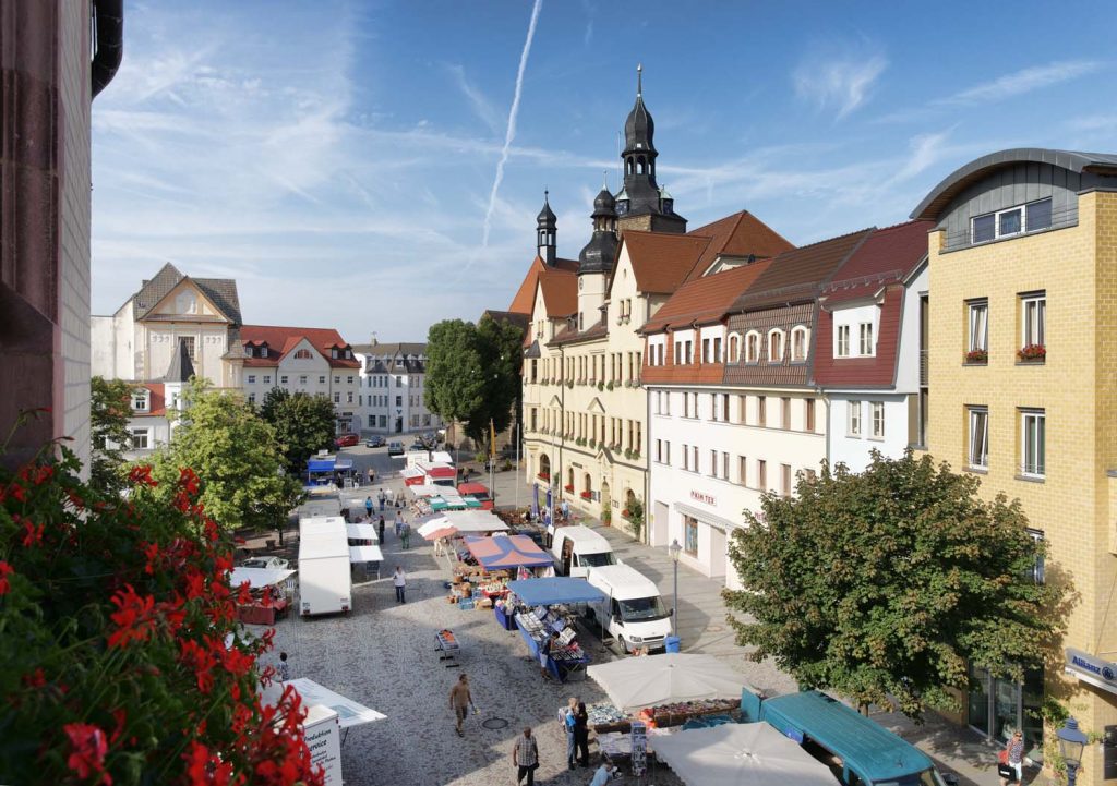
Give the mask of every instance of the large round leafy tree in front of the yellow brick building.
<svg viewBox="0 0 1117 786">
<path fill-rule="evenodd" d="M 798 498 L 765 495 L 729 547 L 737 642 L 803 687 L 917 720 L 955 708 L 967 663 L 1022 680 L 1053 645 L 1063 588 L 1033 579 L 1044 546 L 1019 500 L 985 502 L 977 486 L 930 457 L 875 452 L 863 473 L 823 464 Z"/>
</svg>

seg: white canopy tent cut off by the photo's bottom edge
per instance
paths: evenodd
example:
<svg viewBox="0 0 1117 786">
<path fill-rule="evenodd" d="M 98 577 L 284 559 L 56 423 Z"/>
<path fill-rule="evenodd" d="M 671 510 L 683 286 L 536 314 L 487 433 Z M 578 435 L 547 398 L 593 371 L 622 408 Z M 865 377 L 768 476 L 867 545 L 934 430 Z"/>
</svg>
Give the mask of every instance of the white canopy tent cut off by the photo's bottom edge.
<svg viewBox="0 0 1117 786">
<path fill-rule="evenodd" d="M 640 660 L 640 659 L 636 659 Z M 688 786 L 834 786 L 830 769 L 767 723 L 657 736 L 656 758 Z"/>
</svg>

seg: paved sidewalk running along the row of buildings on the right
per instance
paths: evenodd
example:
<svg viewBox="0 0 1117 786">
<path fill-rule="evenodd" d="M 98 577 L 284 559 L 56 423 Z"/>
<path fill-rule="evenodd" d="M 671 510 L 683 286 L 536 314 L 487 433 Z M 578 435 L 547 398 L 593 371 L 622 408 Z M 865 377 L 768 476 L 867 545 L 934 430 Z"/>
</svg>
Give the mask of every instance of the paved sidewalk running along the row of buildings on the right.
<svg viewBox="0 0 1117 786">
<path fill-rule="evenodd" d="M 514 472 L 496 475 L 494 486 L 497 505 L 504 507 L 514 502 L 519 478 Z M 519 505 L 527 506 L 531 499 L 531 486 L 521 482 Z M 795 681 L 780 671 L 771 659 L 754 663 L 748 660 L 748 649 L 734 641 L 733 629 L 726 621 L 728 612 L 722 600 L 720 581 L 679 565 L 679 596 L 676 604 L 675 564 L 666 549 L 646 546 L 636 541 L 627 531 L 602 526 L 595 519 L 582 523 L 601 533 L 612 545 L 618 558 L 653 581 L 665 605 L 676 606 L 682 652 L 715 655 L 739 670 L 753 687 L 766 693 L 781 694 L 796 690 Z M 928 713 L 923 726 L 916 726 L 900 712 L 875 711 L 870 715 L 881 726 L 926 753 L 935 760 L 943 775 L 956 775 L 961 786 L 1000 785 L 996 776 L 997 747 L 976 732 L 955 726 L 934 713 Z M 1024 782 L 1039 786 L 1046 784 L 1047 779 L 1033 769 L 1025 770 Z"/>
</svg>

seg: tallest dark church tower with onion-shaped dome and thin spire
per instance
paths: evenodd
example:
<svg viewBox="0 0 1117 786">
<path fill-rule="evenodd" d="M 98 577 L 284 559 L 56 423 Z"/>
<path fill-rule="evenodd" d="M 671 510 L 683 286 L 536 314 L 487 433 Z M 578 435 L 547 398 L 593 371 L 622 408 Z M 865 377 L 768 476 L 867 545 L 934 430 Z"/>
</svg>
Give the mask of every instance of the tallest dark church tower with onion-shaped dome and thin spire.
<svg viewBox="0 0 1117 786">
<path fill-rule="evenodd" d="M 675 212 L 675 200 L 656 183 L 656 123 L 643 105 L 643 66 L 637 66 L 636 105 L 624 121 L 624 188 L 617 194 L 618 224 L 652 232 L 687 231 L 687 220 Z"/>
</svg>

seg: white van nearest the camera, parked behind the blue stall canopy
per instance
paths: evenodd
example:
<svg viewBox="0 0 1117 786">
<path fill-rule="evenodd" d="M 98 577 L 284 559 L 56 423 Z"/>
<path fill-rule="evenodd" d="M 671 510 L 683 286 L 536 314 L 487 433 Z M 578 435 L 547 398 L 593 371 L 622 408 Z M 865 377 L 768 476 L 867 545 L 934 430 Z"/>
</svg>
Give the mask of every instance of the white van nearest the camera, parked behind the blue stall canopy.
<svg viewBox="0 0 1117 786">
<path fill-rule="evenodd" d="M 671 614 L 650 578 L 629 565 L 604 565 L 590 571 L 586 581 L 604 593 L 604 602 L 590 607 L 623 652 L 663 649 Z"/>
</svg>

